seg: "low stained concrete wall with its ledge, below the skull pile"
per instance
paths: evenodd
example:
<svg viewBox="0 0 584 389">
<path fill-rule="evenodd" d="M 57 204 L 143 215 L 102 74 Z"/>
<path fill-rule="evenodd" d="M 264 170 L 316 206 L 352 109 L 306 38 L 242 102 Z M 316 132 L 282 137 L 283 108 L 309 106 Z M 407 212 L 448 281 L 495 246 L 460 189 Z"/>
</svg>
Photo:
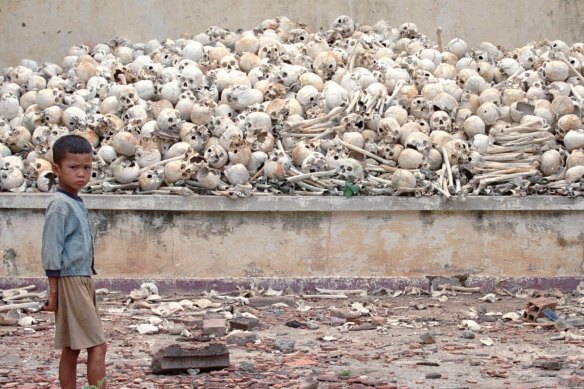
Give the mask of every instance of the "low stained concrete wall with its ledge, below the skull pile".
<svg viewBox="0 0 584 389">
<path fill-rule="evenodd" d="M 50 195 L 0 195 L 0 279 L 42 277 Z M 100 277 L 581 277 L 584 202 L 561 197 L 85 196 Z"/>
</svg>

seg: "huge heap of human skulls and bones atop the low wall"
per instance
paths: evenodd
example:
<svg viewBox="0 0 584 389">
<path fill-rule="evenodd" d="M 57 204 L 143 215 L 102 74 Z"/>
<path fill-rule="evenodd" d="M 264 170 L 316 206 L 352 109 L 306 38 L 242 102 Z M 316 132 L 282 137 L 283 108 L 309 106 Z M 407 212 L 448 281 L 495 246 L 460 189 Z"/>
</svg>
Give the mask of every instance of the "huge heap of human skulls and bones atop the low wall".
<svg viewBox="0 0 584 389">
<path fill-rule="evenodd" d="M 0 75 L 0 188 L 50 191 L 51 145 L 95 148 L 91 193 L 579 195 L 584 43 L 436 41 L 413 23 L 286 17 L 72 47 Z"/>
</svg>

